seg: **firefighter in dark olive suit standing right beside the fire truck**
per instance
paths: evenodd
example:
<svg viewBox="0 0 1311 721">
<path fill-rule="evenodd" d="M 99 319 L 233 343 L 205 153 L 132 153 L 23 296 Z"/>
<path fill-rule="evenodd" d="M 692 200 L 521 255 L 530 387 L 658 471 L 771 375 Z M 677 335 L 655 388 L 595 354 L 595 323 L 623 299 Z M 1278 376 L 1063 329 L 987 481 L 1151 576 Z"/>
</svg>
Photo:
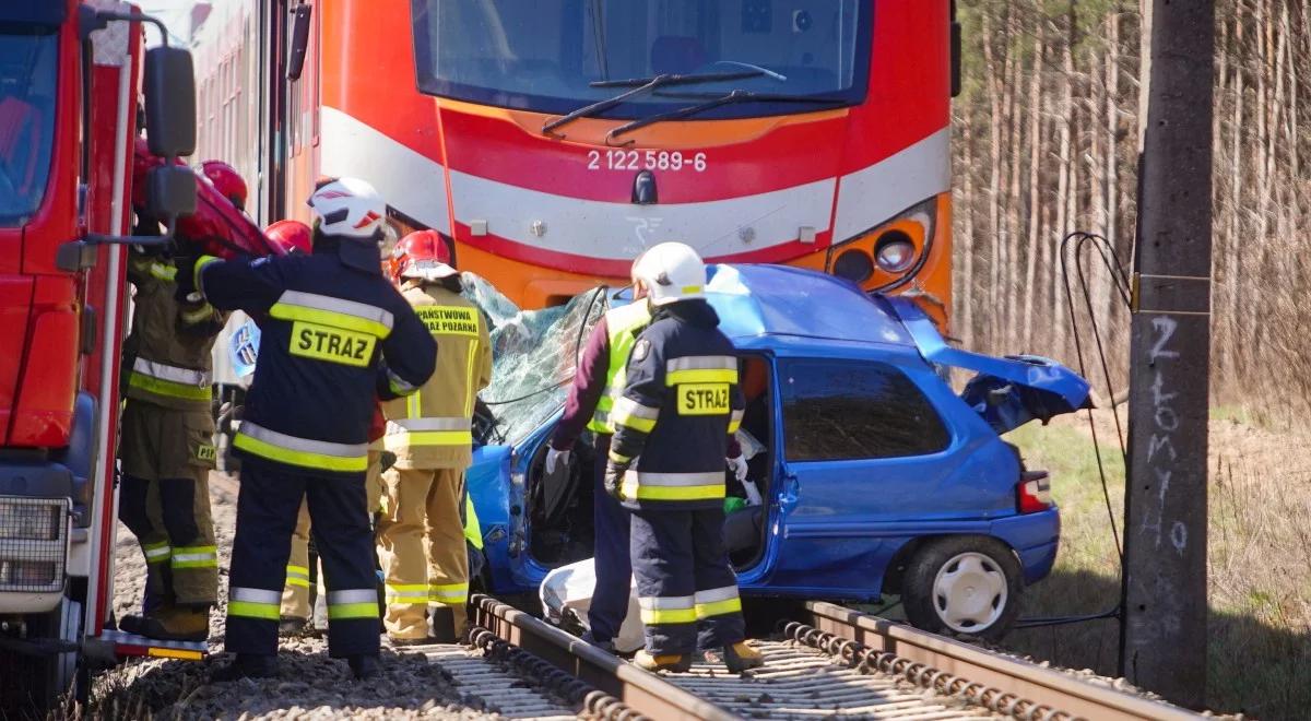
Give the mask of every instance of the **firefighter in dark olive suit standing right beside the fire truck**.
<svg viewBox="0 0 1311 721">
<path fill-rule="evenodd" d="M 143 216 L 138 232 L 152 229 L 157 224 Z M 174 298 L 178 270 L 165 252 L 134 249 L 127 273 L 136 294 L 125 342 L 119 519 L 142 545 L 147 577 L 144 614 L 125 616 L 119 628 L 205 641 L 219 583 L 208 492 L 210 349 L 224 317 L 203 300 Z"/>
</svg>

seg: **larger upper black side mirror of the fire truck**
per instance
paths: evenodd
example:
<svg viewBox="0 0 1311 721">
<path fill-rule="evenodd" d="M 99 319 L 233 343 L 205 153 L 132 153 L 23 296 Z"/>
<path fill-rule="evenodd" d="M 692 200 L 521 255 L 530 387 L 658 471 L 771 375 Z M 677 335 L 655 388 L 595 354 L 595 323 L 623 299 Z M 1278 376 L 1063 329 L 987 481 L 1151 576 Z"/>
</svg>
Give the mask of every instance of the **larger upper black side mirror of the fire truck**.
<svg viewBox="0 0 1311 721">
<path fill-rule="evenodd" d="M 160 157 L 195 152 L 195 72 L 191 54 L 181 47 L 146 51 L 146 140 Z"/>
</svg>

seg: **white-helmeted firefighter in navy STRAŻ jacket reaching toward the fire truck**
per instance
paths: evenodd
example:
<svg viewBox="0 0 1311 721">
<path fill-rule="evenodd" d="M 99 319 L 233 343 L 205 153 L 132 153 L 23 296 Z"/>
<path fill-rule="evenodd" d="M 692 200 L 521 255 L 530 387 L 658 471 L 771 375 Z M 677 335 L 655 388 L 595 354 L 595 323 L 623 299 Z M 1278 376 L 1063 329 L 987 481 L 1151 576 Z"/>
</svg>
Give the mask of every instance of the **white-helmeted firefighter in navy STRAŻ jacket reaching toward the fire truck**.
<svg viewBox="0 0 1311 721">
<path fill-rule="evenodd" d="M 180 292 L 265 317 L 254 380 L 233 447 L 243 455 L 228 589 L 227 649 L 216 680 L 277 672 L 278 614 L 296 510 L 308 498 L 328 585 L 328 652 L 355 678 L 378 670 L 379 614 L 364 499 L 375 395 L 417 391 L 437 345 L 382 275 L 387 206 L 355 178 L 309 197 L 313 254 L 223 262 L 201 257 Z"/>
</svg>

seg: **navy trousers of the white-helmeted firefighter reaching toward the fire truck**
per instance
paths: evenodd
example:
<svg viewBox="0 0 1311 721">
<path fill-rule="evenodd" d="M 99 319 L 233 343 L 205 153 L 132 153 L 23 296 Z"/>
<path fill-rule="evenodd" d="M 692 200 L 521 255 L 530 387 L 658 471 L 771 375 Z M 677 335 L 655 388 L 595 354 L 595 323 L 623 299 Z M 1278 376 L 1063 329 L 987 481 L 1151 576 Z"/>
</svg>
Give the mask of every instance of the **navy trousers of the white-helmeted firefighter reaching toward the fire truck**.
<svg viewBox="0 0 1311 721">
<path fill-rule="evenodd" d="M 241 464 L 227 650 L 278 653 L 278 611 L 302 498 L 309 503 L 328 587 L 328 653 L 378 654 L 382 625 L 364 473 L 315 476 L 254 459 Z"/>
</svg>

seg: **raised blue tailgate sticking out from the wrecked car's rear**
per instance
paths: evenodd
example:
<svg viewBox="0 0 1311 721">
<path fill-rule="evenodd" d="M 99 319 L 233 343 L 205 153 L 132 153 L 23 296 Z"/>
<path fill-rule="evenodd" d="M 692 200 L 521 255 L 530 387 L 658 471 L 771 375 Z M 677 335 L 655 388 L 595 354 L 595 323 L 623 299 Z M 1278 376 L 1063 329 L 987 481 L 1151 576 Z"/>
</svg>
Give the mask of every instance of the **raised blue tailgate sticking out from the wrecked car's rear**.
<svg viewBox="0 0 1311 721">
<path fill-rule="evenodd" d="M 899 298 L 889 302 L 926 360 L 977 374 L 961 399 L 996 433 L 1091 408 L 1088 381 L 1061 363 L 1038 355 L 998 358 L 952 347 L 918 305 Z"/>
</svg>

